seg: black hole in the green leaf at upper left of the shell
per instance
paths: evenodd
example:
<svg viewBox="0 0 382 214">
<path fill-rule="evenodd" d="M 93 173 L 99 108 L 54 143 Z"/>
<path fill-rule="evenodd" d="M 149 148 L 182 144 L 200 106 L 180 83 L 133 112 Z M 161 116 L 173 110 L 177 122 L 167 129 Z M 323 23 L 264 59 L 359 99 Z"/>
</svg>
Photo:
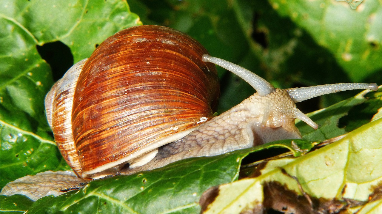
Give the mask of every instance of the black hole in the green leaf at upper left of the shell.
<svg viewBox="0 0 382 214">
<path fill-rule="evenodd" d="M 60 41 L 36 45 L 36 48 L 42 59 L 50 65 L 54 81 L 59 80 L 73 65 L 70 48 Z"/>
</svg>

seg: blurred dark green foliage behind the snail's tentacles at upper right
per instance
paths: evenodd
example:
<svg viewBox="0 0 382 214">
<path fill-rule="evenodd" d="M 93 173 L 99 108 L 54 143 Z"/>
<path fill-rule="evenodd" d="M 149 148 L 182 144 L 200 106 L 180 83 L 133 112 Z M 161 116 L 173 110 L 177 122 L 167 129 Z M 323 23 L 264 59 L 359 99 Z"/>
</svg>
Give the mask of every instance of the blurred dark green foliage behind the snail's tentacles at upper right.
<svg viewBox="0 0 382 214">
<path fill-rule="evenodd" d="M 279 88 L 382 80 L 382 11 L 367 0 L 356 10 L 326 1 L 128 0 L 143 24 L 172 27 L 196 38 L 210 54 L 239 64 Z M 219 113 L 254 90 L 219 68 Z M 298 104 L 303 112 L 357 92 Z"/>
</svg>

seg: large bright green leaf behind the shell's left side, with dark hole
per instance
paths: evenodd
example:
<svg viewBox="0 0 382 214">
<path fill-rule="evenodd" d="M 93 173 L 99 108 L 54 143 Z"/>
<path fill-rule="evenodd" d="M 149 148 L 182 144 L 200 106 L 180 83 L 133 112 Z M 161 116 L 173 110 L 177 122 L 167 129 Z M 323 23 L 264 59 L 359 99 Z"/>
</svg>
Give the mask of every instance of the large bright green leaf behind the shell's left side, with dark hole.
<svg viewBox="0 0 382 214">
<path fill-rule="evenodd" d="M 74 61 L 119 30 L 139 24 L 123 1 L 0 1 L 0 187 L 28 174 L 65 170 L 44 97 L 53 84 L 36 46 L 61 41 Z"/>
</svg>

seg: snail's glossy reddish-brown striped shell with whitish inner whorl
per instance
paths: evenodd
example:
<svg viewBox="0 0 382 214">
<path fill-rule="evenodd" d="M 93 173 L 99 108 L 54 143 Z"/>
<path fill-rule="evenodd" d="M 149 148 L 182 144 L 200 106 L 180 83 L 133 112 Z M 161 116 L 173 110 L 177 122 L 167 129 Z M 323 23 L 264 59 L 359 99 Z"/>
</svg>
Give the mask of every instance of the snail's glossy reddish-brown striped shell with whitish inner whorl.
<svg viewBox="0 0 382 214">
<path fill-rule="evenodd" d="M 146 25 L 107 38 L 73 65 L 45 105 L 55 141 L 76 174 L 89 179 L 126 163 L 142 165 L 158 147 L 212 117 L 219 82 L 215 65 L 202 61 L 205 53 L 181 32 Z"/>
</svg>

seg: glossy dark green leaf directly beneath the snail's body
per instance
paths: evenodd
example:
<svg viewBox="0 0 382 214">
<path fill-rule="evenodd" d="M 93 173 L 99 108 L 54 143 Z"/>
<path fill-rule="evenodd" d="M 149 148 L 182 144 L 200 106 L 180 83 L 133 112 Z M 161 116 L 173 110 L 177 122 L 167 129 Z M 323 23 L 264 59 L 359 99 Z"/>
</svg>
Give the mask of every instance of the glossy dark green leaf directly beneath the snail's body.
<svg viewBox="0 0 382 214">
<path fill-rule="evenodd" d="M 241 160 L 249 151 L 285 147 L 299 156 L 312 146 L 311 142 L 286 140 L 217 157 L 189 158 L 152 171 L 95 180 L 56 198 L 47 196 L 28 212 L 196 213 L 199 197 L 207 188 L 237 180 Z"/>
</svg>

